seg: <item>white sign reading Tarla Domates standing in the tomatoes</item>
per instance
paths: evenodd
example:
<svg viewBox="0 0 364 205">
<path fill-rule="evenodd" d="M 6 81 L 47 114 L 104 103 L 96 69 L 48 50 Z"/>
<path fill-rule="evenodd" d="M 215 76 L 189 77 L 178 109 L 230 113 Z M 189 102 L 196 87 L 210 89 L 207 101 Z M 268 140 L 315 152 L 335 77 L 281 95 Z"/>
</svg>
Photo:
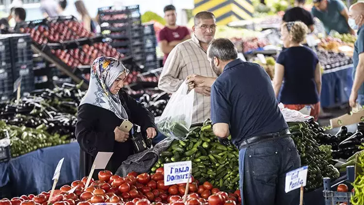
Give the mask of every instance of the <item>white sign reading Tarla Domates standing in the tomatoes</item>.
<svg viewBox="0 0 364 205">
<path fill-rule="evenodd" d="M 192 170 L 192 161 L 180 161 L 164 165 L 165 186 L 187 183 Z"/>
</svg>

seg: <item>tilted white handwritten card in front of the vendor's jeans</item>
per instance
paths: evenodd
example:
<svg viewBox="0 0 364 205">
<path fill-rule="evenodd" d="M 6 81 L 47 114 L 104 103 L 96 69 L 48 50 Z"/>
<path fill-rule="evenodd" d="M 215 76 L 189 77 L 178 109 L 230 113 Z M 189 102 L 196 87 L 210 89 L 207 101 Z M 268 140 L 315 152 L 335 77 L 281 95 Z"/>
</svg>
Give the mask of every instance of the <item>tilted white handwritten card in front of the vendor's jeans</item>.
<svg viewBox="0 0 364 205">
<path fill-rule="evenodd" d="M 285 192 L 306 186 L 308 166 L 304 166 L 286 173 Z"/>
</svg>

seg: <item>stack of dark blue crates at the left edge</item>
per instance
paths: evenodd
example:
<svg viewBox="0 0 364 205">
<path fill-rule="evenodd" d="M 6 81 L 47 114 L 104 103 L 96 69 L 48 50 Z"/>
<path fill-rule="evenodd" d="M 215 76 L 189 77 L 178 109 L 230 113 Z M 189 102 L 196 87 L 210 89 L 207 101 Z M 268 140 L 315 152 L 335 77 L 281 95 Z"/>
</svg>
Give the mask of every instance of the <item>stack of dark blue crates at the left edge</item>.
<svg viewBox="0 0 364 205">
<path fill-rule="evenodd" d="M 14 82 L 21 76 L 21 94 L 34 90 L 32 39 L 29 34 L 0 38 L 0 101 L 14 97 Z"/>
</svg>

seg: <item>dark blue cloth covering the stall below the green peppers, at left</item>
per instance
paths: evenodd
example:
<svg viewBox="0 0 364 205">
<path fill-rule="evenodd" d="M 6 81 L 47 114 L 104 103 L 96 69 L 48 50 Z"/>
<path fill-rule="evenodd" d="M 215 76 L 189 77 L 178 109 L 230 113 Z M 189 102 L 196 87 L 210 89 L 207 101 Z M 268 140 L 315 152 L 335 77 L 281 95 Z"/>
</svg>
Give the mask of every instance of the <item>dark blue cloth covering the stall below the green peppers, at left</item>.
<svg viewBox="0 0 364 205">
<path fill-rule="evenodd" d="M 38 149 L 0 163 L 0 198 L 50 190 L 61 158 L 65 160 L 58 187 L 79 178 L 80 146 L 77 142 Z"/>
</svg>

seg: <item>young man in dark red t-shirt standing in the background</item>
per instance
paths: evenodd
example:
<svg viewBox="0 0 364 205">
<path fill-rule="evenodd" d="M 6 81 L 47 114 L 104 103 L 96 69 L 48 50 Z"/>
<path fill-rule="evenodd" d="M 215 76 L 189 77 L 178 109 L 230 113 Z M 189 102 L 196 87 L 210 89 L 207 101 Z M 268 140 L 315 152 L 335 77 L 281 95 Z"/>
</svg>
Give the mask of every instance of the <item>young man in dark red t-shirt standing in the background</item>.
<svg viewBox="0 0 364 205">
<path fill-rule="evenodd" d="M 173 5 L 167 5 L 164 8 L 165 12 L 165 28 L 159 32 L 159 47 L 165 54 L 163 58 L 163 65 L 171 50 L 185 40 L 191 38 L 190 32 L 187 27 L 176 25 L 176 8 Z"/>
</svg>

